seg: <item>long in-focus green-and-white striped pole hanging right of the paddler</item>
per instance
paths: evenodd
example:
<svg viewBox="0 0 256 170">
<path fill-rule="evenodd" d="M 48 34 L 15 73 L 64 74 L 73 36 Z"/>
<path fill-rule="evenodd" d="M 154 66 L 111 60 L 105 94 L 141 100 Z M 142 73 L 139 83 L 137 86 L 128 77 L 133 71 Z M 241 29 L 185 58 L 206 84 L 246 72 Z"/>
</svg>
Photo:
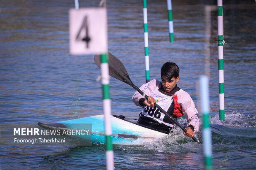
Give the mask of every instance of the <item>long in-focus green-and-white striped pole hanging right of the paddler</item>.
<svg viewBox="0 0 256 170">
<path fill-rule="evenodd" d="M 219 68 L 219 98 L 220 98 L 220 120 L 225 120 L 224 108 L 224 67 L 223 67 L 223 8 L 222 0 L 218 0 L 218 68 Z"/>
</svg>

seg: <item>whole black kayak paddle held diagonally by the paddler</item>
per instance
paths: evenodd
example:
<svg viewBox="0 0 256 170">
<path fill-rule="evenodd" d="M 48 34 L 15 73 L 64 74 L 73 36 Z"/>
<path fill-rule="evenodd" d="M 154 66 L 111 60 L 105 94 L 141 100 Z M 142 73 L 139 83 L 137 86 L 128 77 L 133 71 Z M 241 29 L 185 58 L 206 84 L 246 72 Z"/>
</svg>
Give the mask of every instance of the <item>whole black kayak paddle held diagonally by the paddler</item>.
<svg viewBox="0 0 256 170">
<path fill-rule="evenodd" d="M 94 61 L 95 64 L 100 68 L 100 55 L 95 55 L 94 56 Z M 123 63 L 116 58 L 115 56 L 113 56 L 111 53 L 108 52 L 108 63 L 109 63 L 109 75 L 111 75 L 112 77 L 119 79 L 120 81 L 129 84 L 130 86 L 132 86 L 136 91 L 138 91 L 141 95 L 143 95 L 146 99 L 148 99 L 148 96 L 143 93 L 140 88 L 138 88 L 137 86 L 135 86 L 133 84 L 133 82 L 130 80 L 130 77 L 126 71 L 126 68 L 124 67 Z M 178 123 L 175 119 L 173 119 L 173 117 L 169 116 L 167 114 L 167 112 L 162 109 L 159 105 L 157 105 L 156 103 L 154 103 L 154 105 L 156 106 L 156 108 L 158 108 L 162 113 L 165 114 L 165 116 L 167 116 L 169 119 L 171 119 L 177 126 L 179 126 L 185 133 L 187 132 L 187 130 L 181 126 L 180 123 Z M 201 144 L 201 142 L 195 138 L 192 137 L 192 139 Z"/>
</svg>

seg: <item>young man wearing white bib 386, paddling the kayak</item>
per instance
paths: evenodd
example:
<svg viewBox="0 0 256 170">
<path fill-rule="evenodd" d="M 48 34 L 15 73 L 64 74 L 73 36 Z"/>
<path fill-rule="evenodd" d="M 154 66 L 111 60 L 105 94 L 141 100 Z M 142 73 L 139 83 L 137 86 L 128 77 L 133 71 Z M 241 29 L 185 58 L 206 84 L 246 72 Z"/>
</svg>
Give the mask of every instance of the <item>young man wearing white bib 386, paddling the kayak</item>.
<svg viewBox="0 0 256 170">
<path fill-rule="evenodd" d="M 175 124 L 154 106 L 157 103 L 174 119 L 184 115 L 187 119 L 187 132 L 183 134 L 193 137 L 199 131 L 198 112 L 190 95 L 177 86 L 179 72 L 175 63 L 165 63 L 161 68 L 161 82 L 153 79 L 140 87 L 149 96 L 148 100 L 135 92 L 133 102 L 143 108 L 138 123 L 171 132 Z"/>
</svg>

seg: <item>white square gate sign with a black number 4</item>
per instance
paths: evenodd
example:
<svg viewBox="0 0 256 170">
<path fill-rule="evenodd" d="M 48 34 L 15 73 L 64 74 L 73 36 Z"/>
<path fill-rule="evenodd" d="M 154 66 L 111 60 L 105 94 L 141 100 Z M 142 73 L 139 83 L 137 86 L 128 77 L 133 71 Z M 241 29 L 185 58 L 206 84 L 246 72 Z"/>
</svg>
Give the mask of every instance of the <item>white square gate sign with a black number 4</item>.
<svg viewBox="0 0 256 170">
<path fill-rule="evenodd" d="M 107 52 L 107 9 L 69 10 L 69 52 L 71 55 Z"/>
</svg>

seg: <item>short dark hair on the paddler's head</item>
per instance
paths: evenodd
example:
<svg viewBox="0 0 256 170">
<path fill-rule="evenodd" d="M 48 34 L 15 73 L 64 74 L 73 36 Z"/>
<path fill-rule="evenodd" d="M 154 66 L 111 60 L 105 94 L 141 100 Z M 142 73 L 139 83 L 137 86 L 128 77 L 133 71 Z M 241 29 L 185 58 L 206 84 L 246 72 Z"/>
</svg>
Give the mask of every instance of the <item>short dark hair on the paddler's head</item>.
<svg viewBox="0 0 256 170">
<path fill-rule="evenodd" d="M 177 79 L 180 74 L 180 69 L 177 64 L 166 62 L 161 68 L 161 77 L 165 77 L 168 80 L 171 80 L 173 77 Z"/>
</svg>

